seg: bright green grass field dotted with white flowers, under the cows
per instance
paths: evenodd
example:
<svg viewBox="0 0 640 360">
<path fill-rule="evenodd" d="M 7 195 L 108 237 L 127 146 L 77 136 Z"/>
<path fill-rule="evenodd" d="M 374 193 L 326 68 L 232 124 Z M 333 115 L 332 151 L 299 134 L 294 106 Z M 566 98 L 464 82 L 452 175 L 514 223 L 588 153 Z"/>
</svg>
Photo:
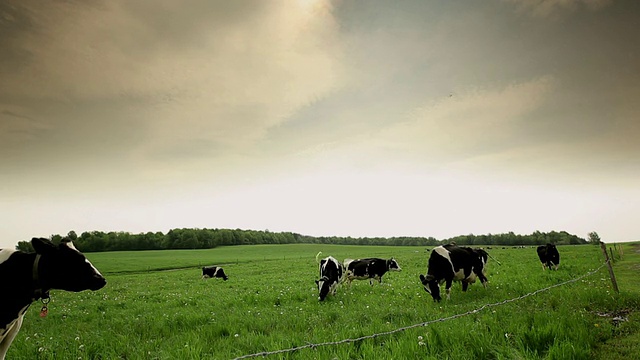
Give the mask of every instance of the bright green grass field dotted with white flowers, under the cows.
<svg viewBox="0 0 640 360">
<path fill-rule="evenodd" d="M 634 247 L 635 246 L 635 247 Z M 334 342 L 466 313 L 598 268 L 599 247 L 558 248 L 558 271 L 543 271 L 532 248 L 489 250 L 489 285 L 434 303 L 419 282 L 428 253 L 418 247 L 257 245 L 211 250 L 87 254 L 107 278 L 97 292 L 53 291 L 46 318 L 27 313 L 7 359 L 233 359 Z M 640 359 L 640 247 L 580 281 L 452 320 L 375 339 L 271 355 L 272 359 Z M 395 257 L 402 272 L 383 284 L 355 281 L 318 302 L 315 255 L 339 260 Z M 201 279 L 222 265 L 229 281 Z M 628 321 L 614 322 L 622 315 Z M 258 358 L 263 358 L 259 356 Z"/>
</svg>

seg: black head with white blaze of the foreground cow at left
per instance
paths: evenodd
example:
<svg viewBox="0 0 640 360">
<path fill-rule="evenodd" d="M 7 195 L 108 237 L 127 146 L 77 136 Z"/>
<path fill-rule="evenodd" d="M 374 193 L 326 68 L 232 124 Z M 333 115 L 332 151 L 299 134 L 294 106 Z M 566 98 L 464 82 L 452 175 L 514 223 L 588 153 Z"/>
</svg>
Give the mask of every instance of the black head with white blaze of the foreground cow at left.
<svg viewBox="0 0 640 360">
<path fill-rule="evenodd" d="M 66 291 L 98 290 L 107 281 L 102 274 L 76 250 L 71 241 L 58 246 L 48 239 L 33 238 L 31 245 L 39 254 L 39 281 L 44 287 Z"/>
</svg>

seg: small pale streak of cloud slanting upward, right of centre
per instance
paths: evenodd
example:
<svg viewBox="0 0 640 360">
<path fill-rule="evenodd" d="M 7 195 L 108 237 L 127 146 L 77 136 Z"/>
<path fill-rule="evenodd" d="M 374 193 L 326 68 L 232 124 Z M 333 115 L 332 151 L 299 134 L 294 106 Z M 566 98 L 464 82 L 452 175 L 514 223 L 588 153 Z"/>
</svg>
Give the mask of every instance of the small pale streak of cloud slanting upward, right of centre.
<svg viewBox="0 0 640 360">
<path fill-rule="evenodd" d="M 475 88 L 415 109 L 380 132 L 381 145 L 424 159 L 460 161 L 520 147 L 527 117 L 542 107 L 556 82 L 541 77 L 502 88 Z"/>
</svg>

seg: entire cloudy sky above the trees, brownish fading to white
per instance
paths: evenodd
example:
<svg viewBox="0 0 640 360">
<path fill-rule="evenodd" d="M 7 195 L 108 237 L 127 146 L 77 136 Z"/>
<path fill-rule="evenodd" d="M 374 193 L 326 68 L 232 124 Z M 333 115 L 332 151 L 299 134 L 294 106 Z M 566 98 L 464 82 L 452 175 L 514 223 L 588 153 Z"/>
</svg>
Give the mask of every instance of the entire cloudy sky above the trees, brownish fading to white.
<svg viewBox="0 0 640 360">
<path fill-rule="evenodd" d="M 640 240 L 640 2 L 0 1 L 0 246 Z"/>
</svg>

